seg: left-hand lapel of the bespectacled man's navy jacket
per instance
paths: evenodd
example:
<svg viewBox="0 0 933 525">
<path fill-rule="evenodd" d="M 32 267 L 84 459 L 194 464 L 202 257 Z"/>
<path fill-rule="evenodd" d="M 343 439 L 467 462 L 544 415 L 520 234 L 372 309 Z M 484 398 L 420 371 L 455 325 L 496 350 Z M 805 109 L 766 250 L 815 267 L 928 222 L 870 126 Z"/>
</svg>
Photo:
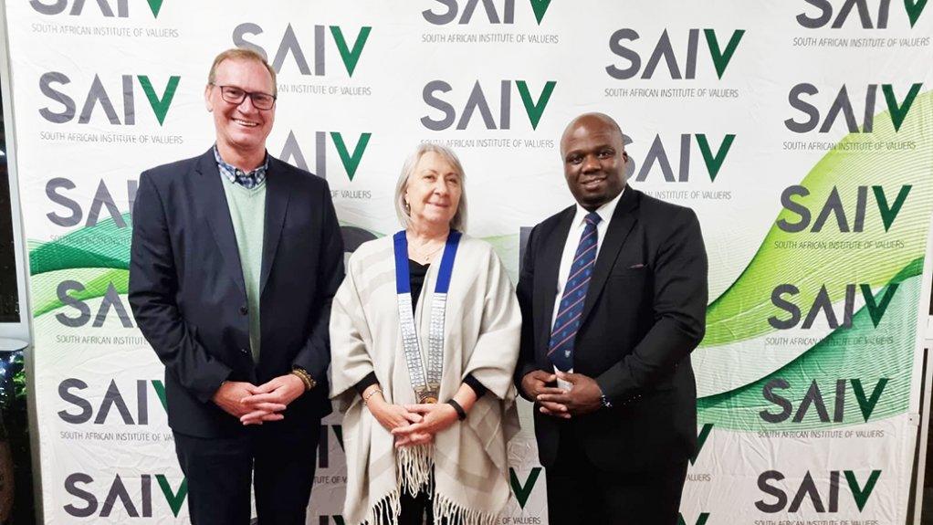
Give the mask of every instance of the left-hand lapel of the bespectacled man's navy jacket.
<svg viewBox="0 0 933 525">
<path fill-rule="evenodd" d="M 227 195 L 224 193 L 224 181 L 221 180 L 213 149 L 198 159 L 195 172 L 194 187 L 198 194 L 197 200 L 203 204 L 207 225 L 214 234 L 214 240 L 223 259 L 223 269 L 233 278 L 233 282 L 240 287 L 240 291 L 246 297 L 243 267 L 240 266 L 240 252 L 237 249 L 236 234 L 233 232 L 233 221 L 230 219 L 230 206 L 227 203 Z"/>
</svg>

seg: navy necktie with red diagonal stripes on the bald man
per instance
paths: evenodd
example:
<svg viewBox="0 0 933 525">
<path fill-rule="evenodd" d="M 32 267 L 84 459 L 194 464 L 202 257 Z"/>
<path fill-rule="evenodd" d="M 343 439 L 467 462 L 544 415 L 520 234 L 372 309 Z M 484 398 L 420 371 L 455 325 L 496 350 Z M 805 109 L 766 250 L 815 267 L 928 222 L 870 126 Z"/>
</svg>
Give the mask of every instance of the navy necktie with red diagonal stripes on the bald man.
<svg viewBox="0 0 933 525">
<path fill-rule="evenodd" d="M 559 370 L 569 370 L 574 366 L 574 341 L 586 302 L 586 291 L 590 287 L 592 267 L 596 264 L 596 224 L 600 217 L 590 212 L 584 217 L 586 226 L 574 254 L 574 262 L 567 274 L 564 295 L 561 296 L 560 311 L 554 319 L 554 329 L 550 332 L 548 356 L 550 362 Z"/>
</svg>

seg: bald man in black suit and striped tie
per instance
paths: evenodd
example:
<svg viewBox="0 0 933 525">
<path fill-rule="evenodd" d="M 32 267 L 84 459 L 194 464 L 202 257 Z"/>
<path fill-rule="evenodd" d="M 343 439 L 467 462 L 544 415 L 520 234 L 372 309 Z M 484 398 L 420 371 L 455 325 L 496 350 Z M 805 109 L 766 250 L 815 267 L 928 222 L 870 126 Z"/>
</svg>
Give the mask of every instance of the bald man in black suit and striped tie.
<svg viewBox="0 0 933 525">
<path fill-rule="evenodd" d="M 673 525 L 696 448 L 700 225 L 626 187 L 612 118 L 575 118 L 561 153 L 577 205 L 532 231 L 518 284 L 516 381 L 535 402 L 550 524 Z"/>
</svg>

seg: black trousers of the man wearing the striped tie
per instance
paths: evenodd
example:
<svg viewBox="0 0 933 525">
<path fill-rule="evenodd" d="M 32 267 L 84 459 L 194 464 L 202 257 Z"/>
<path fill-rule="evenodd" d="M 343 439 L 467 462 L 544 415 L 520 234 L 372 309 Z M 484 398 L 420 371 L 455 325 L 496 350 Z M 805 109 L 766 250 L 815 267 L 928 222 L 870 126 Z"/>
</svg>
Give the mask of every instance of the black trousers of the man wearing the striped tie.
<svg viewBox="0 0 933 525">
<path fill-rule="evenodd" d="M 567 425 L 557 462 L 545 472 L 550 525 L 676 525 L 687 460 L 659 464 L 647 472 L 601 470 Z"/>
</svg>

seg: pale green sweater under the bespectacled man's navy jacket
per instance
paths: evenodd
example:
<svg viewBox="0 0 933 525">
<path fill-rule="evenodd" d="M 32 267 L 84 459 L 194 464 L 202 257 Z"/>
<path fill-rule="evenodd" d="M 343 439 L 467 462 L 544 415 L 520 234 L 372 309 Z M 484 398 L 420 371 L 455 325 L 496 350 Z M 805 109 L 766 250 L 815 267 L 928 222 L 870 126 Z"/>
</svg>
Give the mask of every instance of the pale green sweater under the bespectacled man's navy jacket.
<svg viewBox="0 0 933 525">
<path fill-rule="evenodd" d="M 246 189 L 223 179 L 230 220 L 236 234 L 240 266 L 249 306 L 249 346 L 253 362 L 259 362 L 259 274 L 262 270 L 262 240 L 266 230 L 266 185 Z"/>
</svg>

